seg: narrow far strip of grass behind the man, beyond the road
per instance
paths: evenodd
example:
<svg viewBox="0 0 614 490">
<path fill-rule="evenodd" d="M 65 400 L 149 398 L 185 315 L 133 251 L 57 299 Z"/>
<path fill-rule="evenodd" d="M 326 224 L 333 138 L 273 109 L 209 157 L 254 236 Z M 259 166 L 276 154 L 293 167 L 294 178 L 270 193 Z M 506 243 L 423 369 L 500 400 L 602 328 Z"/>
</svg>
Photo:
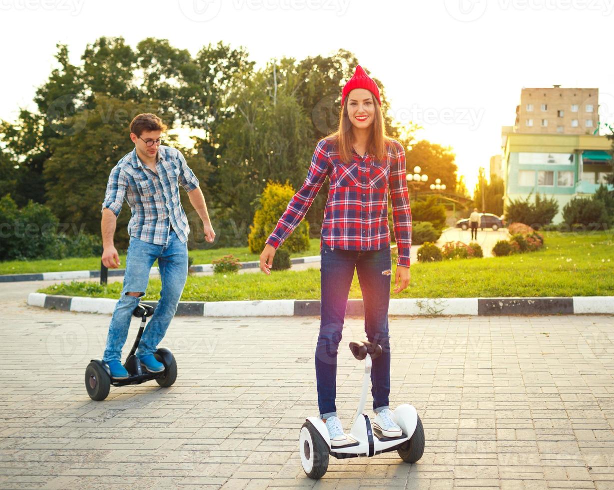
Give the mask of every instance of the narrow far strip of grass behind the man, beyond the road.
<svg viewBox="0 0 614 490">
<path fill-rule="evenodd" d="M 208 250 L 190 250 L 188 255 L 194 259 L 193 264 L 211 264 L 213 259 L 224 255 L 234 255 L 241 262 L 258 260 L 260 253 L 250 253 L 247 247 L 215 248 Z M 291 254 L 292 257 L 306 257 L 320 255 L 320 240 L 309 240 L 309 250 Z M 126 256 L 120 255 L 120 267 L 126 264 Z M 157 266 L 157 263 L 154 264 Z M 41 272 L 60 271 L 97 271 L 100 269 L 100 257 L 69 258 L 60 260 L 32 260 L 32 261 L 6 261 L 0 262 L 0 274 L 37 274 Z"/>
</svg>

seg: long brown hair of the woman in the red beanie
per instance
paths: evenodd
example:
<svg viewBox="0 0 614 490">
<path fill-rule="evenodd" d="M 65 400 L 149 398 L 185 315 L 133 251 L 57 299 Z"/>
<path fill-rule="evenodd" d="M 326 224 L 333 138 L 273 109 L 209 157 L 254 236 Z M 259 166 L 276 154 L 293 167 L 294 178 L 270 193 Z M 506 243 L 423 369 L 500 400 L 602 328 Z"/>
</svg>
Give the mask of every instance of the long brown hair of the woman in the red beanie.
<svg viewBox="0 0 614 490">
<path fill-rule="evenodd" d="M 373 123 L 370 126 L 371 135 L 367 143 L 367 151 L 375 155 L 378 160 L 383 160 L 386 156 L 387 143 L 391 141 L 391 138 L 386 135 L 386 125 L 384 125 L 381 106 L 373 94 L 371 94 L 371 98 L 373 99 L 373 104 L 375 104 L 375 113 L 373 114 Z M 352 122 L 348 116 L 348 100 L 349 97 L 346 97 L 341 108 L 338 130 L 322 139 L 331 140 L 336 143 L 339 147 L 341 160 L 349 164 L 353 160 L 352 145 L 354 144 L 354 132 L 352 132 Z"/>
</svg>

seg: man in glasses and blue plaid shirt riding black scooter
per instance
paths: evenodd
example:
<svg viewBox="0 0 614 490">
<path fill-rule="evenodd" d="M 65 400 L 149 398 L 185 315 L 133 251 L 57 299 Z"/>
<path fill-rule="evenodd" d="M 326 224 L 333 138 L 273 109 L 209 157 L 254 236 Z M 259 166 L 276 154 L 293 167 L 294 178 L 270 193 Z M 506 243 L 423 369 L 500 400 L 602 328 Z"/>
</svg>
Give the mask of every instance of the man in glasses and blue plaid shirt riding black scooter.
<svg viewBox="0 0 614 490">
<path fill-rule="evenodd" d="M 164 370 L 153 352 L 173 319 L 184 290 L 188 272 L 188 220 L 179 199 L 179 185 L 185 189 L 198 216 L 203 220 L 208 242 L 216 237 L 209 220 L 198 179 L 185 162 L 181 151 L 163 146 L 161 135 L 166 125 L 155 114 L 139 114 L 130 123 L 134 149 L 126 154 L 109 175 L 102 208 L 103 264 L 120 266 L 113 244 L 117 216 L 126 199 L 132 216 L 128 223 L 130 246 L 126 257 L 123 290 L 109 325 L 103 360 L 111 377 L 126 379 L 128 371 L 120 362 L 122 347 L 134 308 L 145 294 L 149 271 L 158 259 L 162 290 L 155 314 L 147 325 L 136 352 L 141 364 L 152 373 Z"/>
</svg>

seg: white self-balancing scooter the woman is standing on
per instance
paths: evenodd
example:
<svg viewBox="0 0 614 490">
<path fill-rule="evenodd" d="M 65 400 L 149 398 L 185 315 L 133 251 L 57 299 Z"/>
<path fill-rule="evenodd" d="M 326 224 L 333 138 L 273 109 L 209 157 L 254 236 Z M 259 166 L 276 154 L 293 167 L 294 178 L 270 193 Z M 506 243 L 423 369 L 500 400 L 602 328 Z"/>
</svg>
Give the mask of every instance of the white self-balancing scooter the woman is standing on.
<svg viewBox="0 0 614 490">
<path fill-rule="evenodd" d="M 365 360 L 362 395 L 354 417 L 354 425 L 348 435 L 351 442 L 344 446 L 333 447 L 328 437 L 328 429 L 320 417 L 309 417 L 301 427 L 298 440 L 301 464 L 306 475 L 314 480 L 322 478 L 326 473 L 329 455 L 337 459 L 371 457 L 396 449 L 403 461 L 415 463 L 424 453 L 424 429 L 413 406 L 404 404 L 394 410 L 394 421 L 403 432 L 399 437 L 384 437 L 371 425 L 368 415 L 363 413 L 371 377 L 371 361 L 381 355 L 381 346 L 362 341 L 350 342 L 349 348 L 359 361 Z"/>
</svg>

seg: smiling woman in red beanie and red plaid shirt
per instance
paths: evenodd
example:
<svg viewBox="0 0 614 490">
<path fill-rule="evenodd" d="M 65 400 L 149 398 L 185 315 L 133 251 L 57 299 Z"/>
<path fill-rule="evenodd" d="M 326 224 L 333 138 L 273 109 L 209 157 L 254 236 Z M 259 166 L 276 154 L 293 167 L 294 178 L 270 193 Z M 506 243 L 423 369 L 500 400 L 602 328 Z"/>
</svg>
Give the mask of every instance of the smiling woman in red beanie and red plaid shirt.
<svg viewBox="0 0 614 490">
<path fill-rule="evenodd" d="M 387 138 L 378 86 L 360 66 L 343 87 L 341 106 L 338 131 L 317 144 L 305 183 L 290 200 L 260 255 L 260 269 L 271 274 L 276 249 L 303 219 L 328 176 L 330 191 L 322 221 L 316 381 L 320 417 L 336 447 L 351 442 L 337 417 L 335 397 L 337 350 L 354 269 L 362 291 L 367 339 L 383 348 L 371 370 L 374 425 L 386 437 L 402 433 L 388 406 L 391 287 L 388 191 L 398 246 L 395 293 L 410 283 L 411 245 L 405 150 L 400 143 Z"/>
</svg>

